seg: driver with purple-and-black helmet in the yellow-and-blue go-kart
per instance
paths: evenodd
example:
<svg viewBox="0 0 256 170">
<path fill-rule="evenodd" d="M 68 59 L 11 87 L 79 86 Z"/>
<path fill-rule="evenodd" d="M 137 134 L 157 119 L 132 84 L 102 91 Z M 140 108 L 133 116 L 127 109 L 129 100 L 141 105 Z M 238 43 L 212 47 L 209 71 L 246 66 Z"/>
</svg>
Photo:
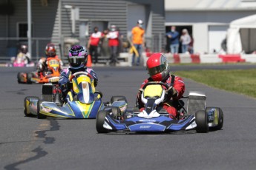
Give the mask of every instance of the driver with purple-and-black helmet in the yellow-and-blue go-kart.
<svg viewBox="0 0 256 170">
<path fill-rule="evenodd" d="M 87 60 L 88 52 L 85 49 L 85 47 L 80 45 L 75 45 L 71 47 L 71 49 L 68 52 L 68 63 L 70 67 L 68 69 L 63 69 L 59 77 L 59 86 L 62 91 L 62 101 L 70 101 L 70 98 L 67 95 L 70 91 L 70 88 L 68 86 L 69 78 L 75 72 L 90 73 L 94 78 L 94 86 L 97 86 L 98 78 L 96 72 L 94 72 L 93 69 L 86 67 Z"/>
</svg>

